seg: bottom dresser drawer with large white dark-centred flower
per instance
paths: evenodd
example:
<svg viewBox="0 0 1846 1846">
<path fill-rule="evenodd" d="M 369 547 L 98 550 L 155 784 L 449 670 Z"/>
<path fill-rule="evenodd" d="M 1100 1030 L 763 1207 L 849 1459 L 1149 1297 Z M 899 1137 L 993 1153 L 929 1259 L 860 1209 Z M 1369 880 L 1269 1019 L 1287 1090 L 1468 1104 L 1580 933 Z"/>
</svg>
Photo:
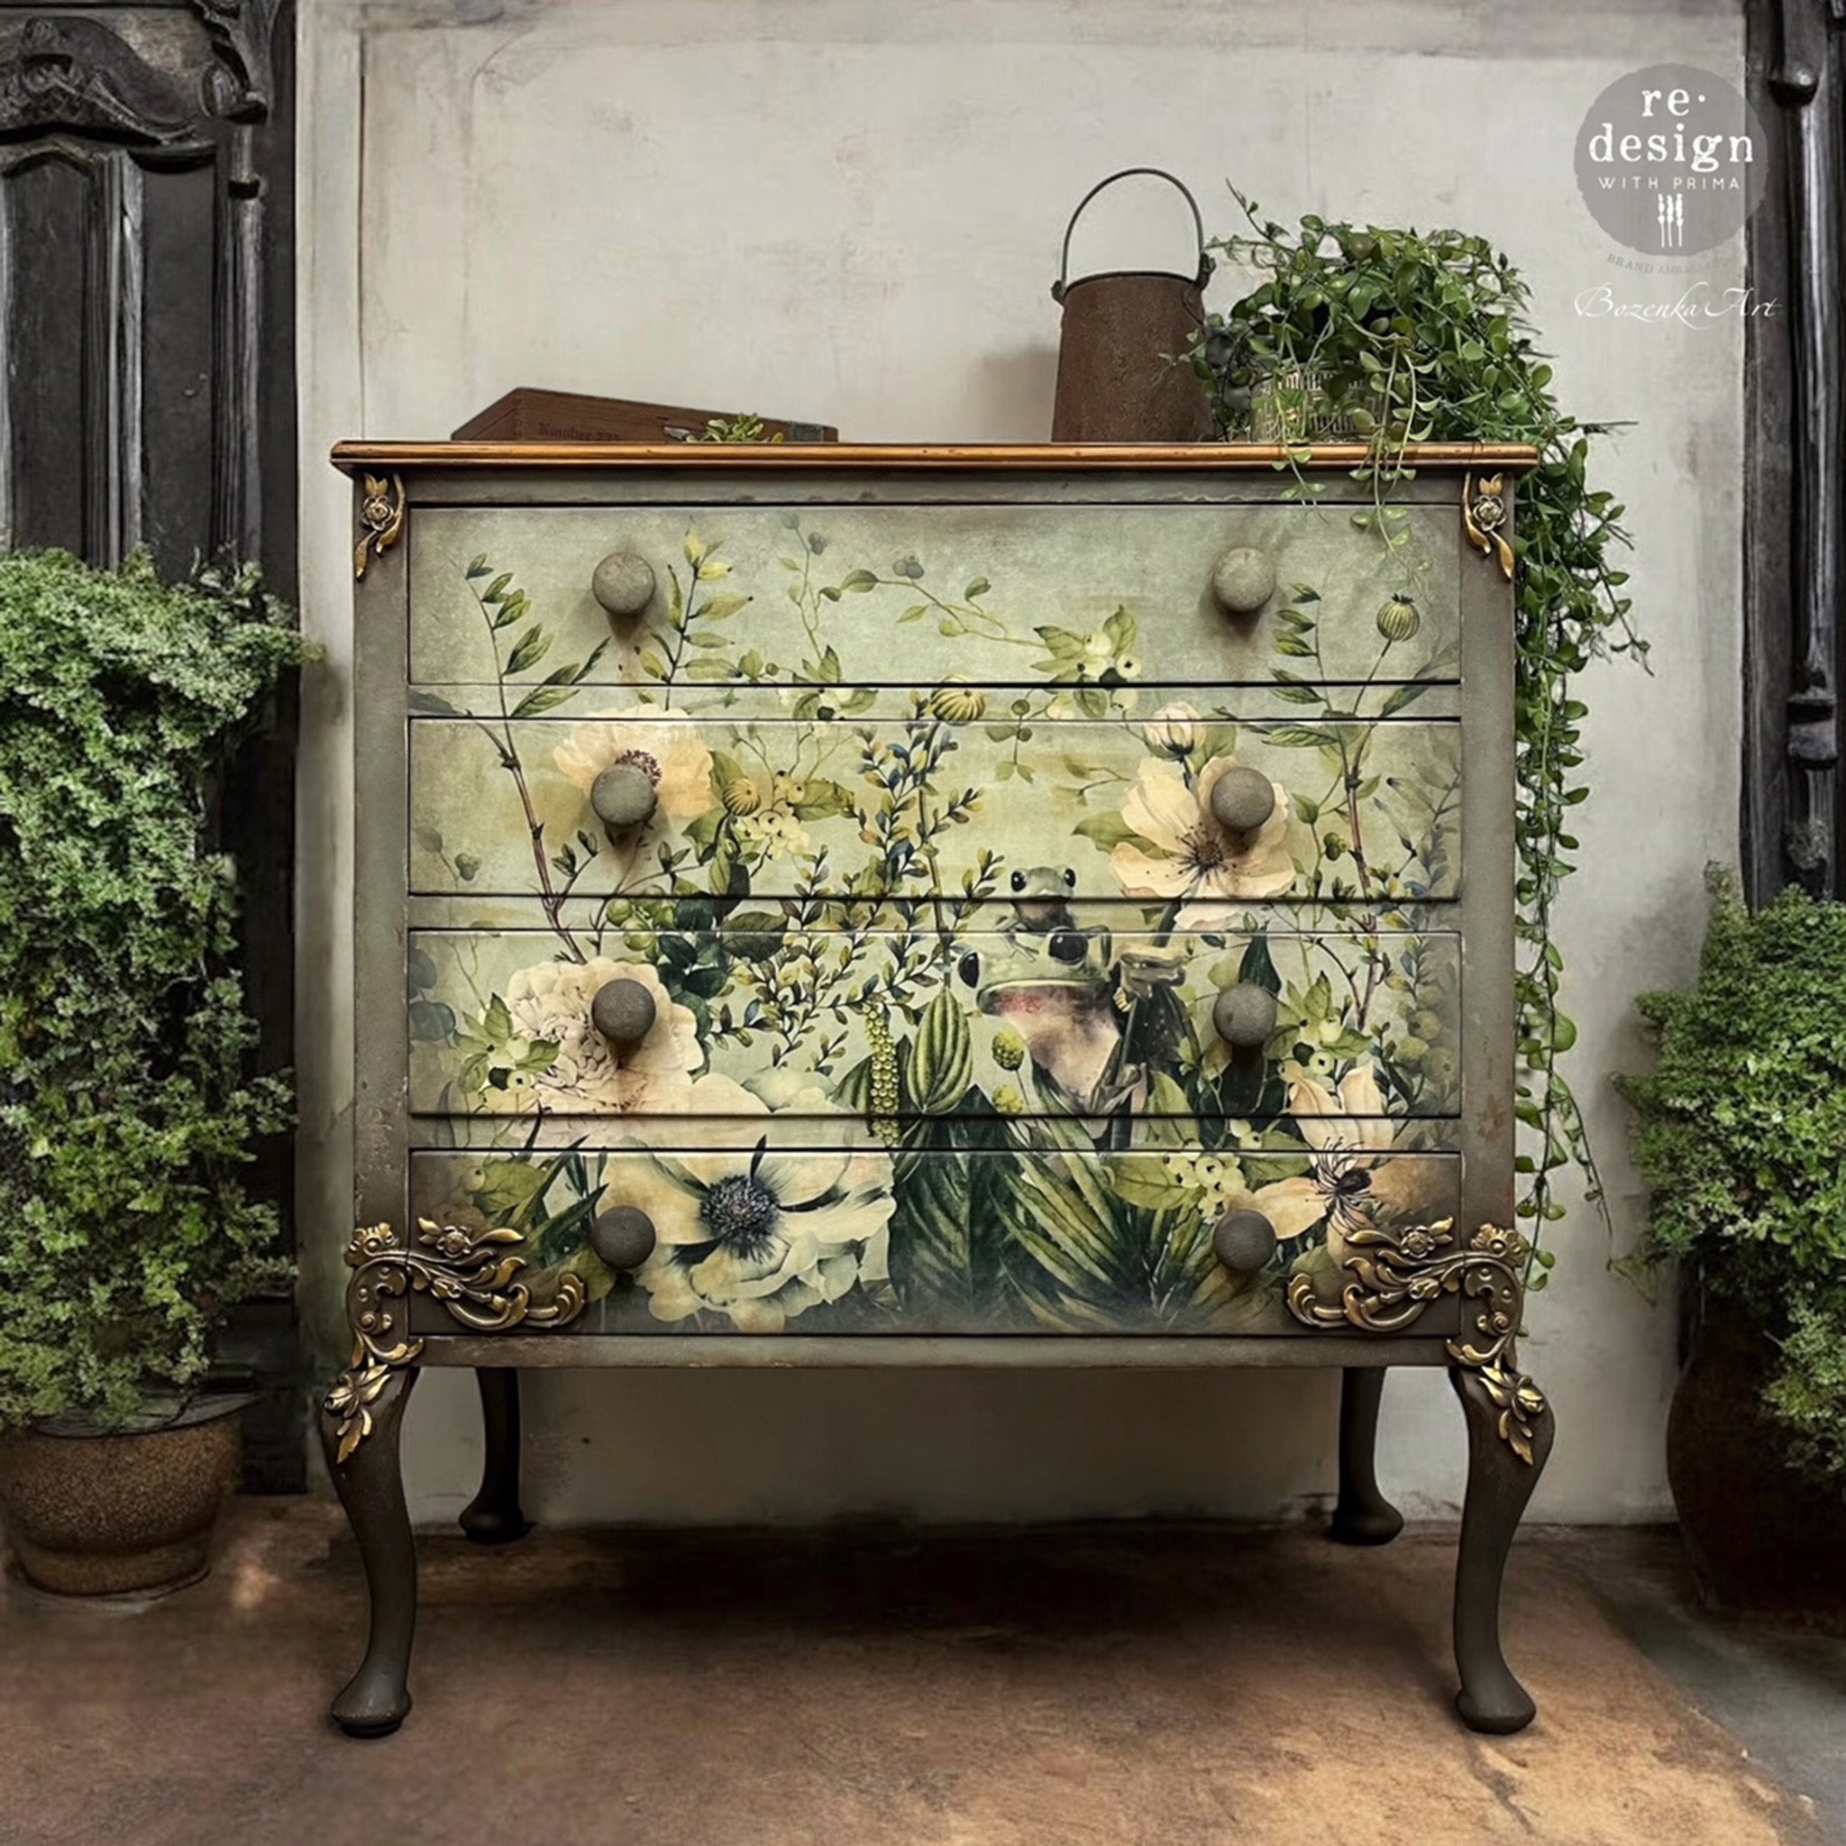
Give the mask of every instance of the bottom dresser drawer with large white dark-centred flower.
<svg viewBox="0 0 1846 1846">
<path fill-rule="evenodd" d="M 1301 1335 L 1290 1276 L 1337 1300 L 1348 1231 L 1460 1200 L 1453 1154 L 1098 1150 L 1073 1122 L 986 1124 L 953 1146 L 803 1148 L 777 1130 L 733 1122 L 689 1152 L 415 1154 L 412 1211 L 519 1231 L 541 1292 L 574 1270 L 591 1296 L 576 1333 Z M 1215 1244 L 1228 1215 L 1235 1266 Z M 439 1307 L 425 1325 L 441 1329 Z"/>
</svg>

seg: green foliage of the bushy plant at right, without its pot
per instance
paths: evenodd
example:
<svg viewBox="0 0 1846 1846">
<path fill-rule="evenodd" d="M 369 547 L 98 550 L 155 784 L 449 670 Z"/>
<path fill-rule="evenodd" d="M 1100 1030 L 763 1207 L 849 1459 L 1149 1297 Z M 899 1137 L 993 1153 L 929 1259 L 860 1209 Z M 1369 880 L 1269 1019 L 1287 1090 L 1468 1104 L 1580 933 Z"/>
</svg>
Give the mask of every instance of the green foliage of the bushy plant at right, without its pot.
<svg viewBox="0 0 1846 1846">
<path fill-rule="evenodd" d="M 1791 1460 L 1846 1486 L 1846 905 L 1757 912 L 1713 873 L 1698 978 L 1639 1001 L 1660 1043 L 1636 1108 L 1645 1255 L 1780 1349 L 1768 1410 Z"/>
</svg>

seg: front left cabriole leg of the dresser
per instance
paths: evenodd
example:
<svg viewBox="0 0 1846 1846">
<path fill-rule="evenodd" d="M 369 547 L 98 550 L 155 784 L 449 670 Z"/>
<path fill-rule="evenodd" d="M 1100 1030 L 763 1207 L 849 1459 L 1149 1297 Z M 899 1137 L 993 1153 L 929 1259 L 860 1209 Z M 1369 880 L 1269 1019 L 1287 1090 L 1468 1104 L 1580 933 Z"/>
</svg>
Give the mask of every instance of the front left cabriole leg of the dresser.
<svg viewBox="0 0 1846 1846">
<path fill-rule="evenodd" d="M 417 1549 L 404 1506 L 397 1436 L 415 1368 L 386 1377 L 371 1399 L 371 1432 L 342 1462 L 340 1412 L 321 1410 L 327 1468 L 353 1523 L 371 1595 L 371 1632 L 358 1672 L 334 1698 L 334 1722 L 349 1737 L 388 1737 L 410 1711 L 410 1639 L 417 1626 Z"/>
</svg>

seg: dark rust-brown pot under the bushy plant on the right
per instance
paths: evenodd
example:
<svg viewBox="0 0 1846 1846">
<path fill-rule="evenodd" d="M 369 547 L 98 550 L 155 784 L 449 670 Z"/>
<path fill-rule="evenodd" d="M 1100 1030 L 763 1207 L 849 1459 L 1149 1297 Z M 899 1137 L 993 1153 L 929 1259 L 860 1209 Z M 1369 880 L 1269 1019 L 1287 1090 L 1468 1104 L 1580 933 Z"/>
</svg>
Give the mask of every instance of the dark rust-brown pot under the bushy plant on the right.
<svg viewBox="0 0 1846 1846">
<path fill-rule="evenodd" d="M 1765 1335 L 1704 1322 L 1672 1394 L 1667 1479 L 1706 1602 L 1831 1626 L 1846 1621 L 1846 1495 L 1783 1464 L 1763 1410 L 1774 1361 Z"/>
</svg>

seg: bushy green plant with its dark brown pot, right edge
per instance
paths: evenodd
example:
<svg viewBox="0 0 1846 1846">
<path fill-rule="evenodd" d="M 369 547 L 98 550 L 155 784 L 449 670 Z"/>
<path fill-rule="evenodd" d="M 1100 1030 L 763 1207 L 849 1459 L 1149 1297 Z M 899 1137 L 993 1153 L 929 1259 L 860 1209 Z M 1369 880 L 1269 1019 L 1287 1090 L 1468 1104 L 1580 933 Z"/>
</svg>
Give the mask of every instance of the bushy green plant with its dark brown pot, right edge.
<svg viewBox="0 0 1846 1846">
<path fill-rule="evenodd" d="M 1846 905 L 1754 914 L 1713 873 L 1696 982 L 1648 993 L 1617 1078 L 1650 1187 L 1643 1259 L 1689 1283 L 1667 1468 L 1702 1591 L 1846 1612 Z"/>
</svg>

